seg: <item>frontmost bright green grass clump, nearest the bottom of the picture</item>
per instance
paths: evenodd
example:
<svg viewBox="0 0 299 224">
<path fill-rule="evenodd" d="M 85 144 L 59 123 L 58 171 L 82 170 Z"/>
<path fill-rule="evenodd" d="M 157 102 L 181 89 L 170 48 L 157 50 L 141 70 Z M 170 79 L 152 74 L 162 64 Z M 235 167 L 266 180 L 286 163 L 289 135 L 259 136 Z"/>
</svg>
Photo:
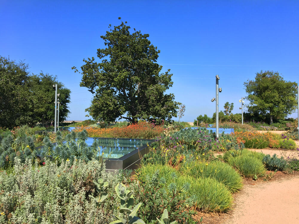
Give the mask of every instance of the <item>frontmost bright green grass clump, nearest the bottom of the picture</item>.
<svg viewBox="0 0 299 224">
<path fill-rule="evenodd" d="M 190 176 L 180 176 L 177 179 L 179 188 L 186 183 L 190 183 L 187 193 L 196 197 L 196 208 L 205 212 L 226 212 L 231 208 L 232 194 L 217 180 L 206 177 L 196 179 Z"/>
</svg>

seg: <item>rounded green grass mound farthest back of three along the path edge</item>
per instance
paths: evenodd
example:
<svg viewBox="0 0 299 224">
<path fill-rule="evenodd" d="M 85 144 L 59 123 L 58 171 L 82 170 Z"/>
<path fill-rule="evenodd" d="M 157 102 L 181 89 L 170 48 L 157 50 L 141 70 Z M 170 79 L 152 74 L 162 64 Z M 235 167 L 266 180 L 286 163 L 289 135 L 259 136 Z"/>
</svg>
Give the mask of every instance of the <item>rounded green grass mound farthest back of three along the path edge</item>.
<svg viewBox="0 0 299 224">
<path fill-rule="evenodd" d="M 227 151 L 223 159 L 229 165 L 237 169 L 242 176 L 254 178 L 261 177 L 265 174 L 266 169 L 262 162 L 263 158 L 260 158 L 259 154 L 246 150 L 235 152 L 236 151 Z"/>
</svg>

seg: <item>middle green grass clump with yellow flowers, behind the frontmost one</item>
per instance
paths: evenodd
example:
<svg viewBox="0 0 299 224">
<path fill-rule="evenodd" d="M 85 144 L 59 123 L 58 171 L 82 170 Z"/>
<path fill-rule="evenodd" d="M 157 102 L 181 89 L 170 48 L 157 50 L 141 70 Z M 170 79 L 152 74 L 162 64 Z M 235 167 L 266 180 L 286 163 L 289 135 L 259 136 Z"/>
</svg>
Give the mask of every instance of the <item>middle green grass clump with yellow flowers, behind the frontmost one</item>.
<svg viewBox="0 0 299 224">
<path fill-rule="evenodd" d="M 242 188 L 242 177 L 230 165 L 214 160 L 210 163 L 205 161 L 193 161 L 188 163 L 186 173 L 192 177 L 210 177 L 222 182 L 231 192 Z"/>
</svg>

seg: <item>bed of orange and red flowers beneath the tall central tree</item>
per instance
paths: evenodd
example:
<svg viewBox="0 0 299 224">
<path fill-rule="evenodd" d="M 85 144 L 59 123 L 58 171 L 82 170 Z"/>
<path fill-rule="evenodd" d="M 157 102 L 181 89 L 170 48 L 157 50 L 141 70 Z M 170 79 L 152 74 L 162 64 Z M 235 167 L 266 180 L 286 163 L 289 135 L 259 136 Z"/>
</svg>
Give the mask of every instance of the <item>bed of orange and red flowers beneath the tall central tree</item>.
<svg viewBox="0 0 299 224">
<path fill-rule="evenodd" d="M 83 130 L 87 131 L 89 137 L 153 139 L 164 131 L 164 126 L 140 121 L 137 124 L 112 128 L 81 126 L 77 127 L 75 132 Z"/>
</svg>

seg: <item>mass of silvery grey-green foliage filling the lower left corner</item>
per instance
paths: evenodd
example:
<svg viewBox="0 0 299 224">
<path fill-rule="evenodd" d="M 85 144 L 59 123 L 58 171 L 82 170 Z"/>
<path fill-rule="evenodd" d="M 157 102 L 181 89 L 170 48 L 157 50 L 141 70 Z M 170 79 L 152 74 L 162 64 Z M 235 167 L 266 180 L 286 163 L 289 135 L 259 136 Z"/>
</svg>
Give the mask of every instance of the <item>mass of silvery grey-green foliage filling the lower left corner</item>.
<svg viewBox="0 0 299 224">
<path fill-rule="evenodd" d="M 118 213 L 119 200 L 114 187 L 118 175 L 105 172 L 98 161 L 50 161 L 45 165 L 16 159 L 14 172 L 0 172 L 0 223 L 97 223 L 112 221 Z M 88 195 L 93 194 L 93 180 L 102 177 L 109 184 L 109 196 L 99 208 Z"/>
</svg>

